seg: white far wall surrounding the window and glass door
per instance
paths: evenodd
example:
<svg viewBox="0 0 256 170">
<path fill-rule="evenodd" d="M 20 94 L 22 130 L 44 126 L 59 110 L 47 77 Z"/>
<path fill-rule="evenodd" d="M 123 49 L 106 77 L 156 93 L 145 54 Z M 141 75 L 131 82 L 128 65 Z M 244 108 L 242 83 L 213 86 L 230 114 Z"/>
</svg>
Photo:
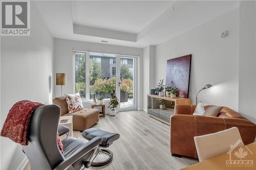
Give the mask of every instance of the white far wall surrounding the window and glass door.
<svg viewBox="0 0 256 170">
<path fill-rule="evenodd" d="M 73 56 L 72 49 L 75 50 L 91 50 L 91 51 L 99 51 L 105 53 L 120 53 L 120 54 L 129 54 L 129 55 L 139 55 L 140 57 L 137 60 L 138 74 L 137 78 L 137 100 L 138 100 L 138 109 L 142 110 L 143 108 L 143 100 L 142 98 L 142 84 L 143 74 L 142 74 L 142 57 L 143 51 L 142 48 L 133 48 L 133 47 L 125 47 L 118 45 L 108 45 L 108 44 L 99 44 L 92 42 L 82 42 L 82 41 L 74 41 L 74 40 L 65 40 L 54 38 L 54 80 L 56 72 L 63 72 L 67 74 L 67 85 L 62 86 L 62 93 L 74 93 L 74 67 L 73 67 Z M 54 85 L 54 97 L 60 96 L 61 91 L 60 87 Z M 90 103 L 83 102 L 84 107 L 90 107 Z"/>
</svg>

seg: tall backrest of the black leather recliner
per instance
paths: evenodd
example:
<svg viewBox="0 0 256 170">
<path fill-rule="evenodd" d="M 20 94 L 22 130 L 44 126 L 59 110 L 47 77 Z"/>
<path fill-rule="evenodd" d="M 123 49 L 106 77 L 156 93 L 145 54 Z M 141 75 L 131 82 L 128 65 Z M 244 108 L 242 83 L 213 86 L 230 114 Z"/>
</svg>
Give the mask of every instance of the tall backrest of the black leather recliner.
<svg viewBox="0 0 256 170">
<path fill-rule="evenodd" d="M 60 108 L 56 105 L 37 107 L 30 118 L 28 145 L 22 145 L 31 169 L 53 169 L 65 158 L 57 145 Z"/>
</svg>

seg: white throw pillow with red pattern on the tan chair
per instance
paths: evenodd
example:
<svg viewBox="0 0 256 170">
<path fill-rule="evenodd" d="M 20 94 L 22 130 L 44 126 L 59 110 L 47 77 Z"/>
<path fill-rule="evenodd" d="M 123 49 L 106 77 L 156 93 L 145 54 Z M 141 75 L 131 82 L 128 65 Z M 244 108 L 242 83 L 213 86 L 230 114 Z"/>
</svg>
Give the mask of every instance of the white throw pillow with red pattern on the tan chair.
<svg viewBox="0 0 256 170">
<path fill-rule="evenodd" d="M 65 94 L 69 113 L 83 109 L 82 100 L 79 93 Z"/>
</svg>

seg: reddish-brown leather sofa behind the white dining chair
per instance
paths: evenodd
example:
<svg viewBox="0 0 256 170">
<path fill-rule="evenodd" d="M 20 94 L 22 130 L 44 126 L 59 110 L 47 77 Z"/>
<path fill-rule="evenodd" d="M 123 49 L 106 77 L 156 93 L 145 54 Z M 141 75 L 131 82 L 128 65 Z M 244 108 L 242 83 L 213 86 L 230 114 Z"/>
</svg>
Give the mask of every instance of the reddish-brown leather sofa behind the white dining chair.
<svg viewBox="0 0 256 170">
<path fill-rule="evenodd" d="M 244 144 L 254 142 L 256 125 L 241 114 L 223 107 L 217 117 L 192 115 L 196 105 L 176 105 L 170 117 L 170 152 L 198 159 L 194 136 L 238 127 Z M 221 139 L 220 139 L 221 140 Z"/>
</svg>

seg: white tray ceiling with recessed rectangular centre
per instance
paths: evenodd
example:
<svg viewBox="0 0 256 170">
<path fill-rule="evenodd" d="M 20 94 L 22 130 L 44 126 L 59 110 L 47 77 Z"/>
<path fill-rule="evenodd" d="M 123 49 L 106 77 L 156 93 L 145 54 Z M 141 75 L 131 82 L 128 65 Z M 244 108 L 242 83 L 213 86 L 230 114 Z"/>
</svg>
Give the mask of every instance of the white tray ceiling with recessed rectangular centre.
<svg viewBox="0 0 256 170">
<path fill-rule="evenodd" d="M 35 1 L 53 37 L 145 47 L 238 8 L 237 1 Z"/>
</svg>

